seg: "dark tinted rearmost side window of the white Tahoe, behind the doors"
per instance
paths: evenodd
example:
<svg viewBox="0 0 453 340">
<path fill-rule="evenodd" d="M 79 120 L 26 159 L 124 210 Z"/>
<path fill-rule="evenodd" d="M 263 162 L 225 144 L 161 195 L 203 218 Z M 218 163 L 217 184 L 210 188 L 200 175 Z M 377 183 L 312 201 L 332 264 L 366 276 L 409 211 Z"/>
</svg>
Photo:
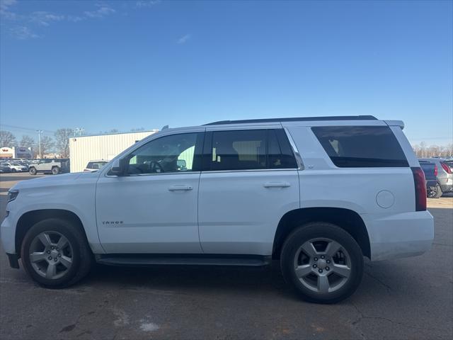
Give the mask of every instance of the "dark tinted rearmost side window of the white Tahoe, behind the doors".
<svg viewBox="0 0 453 340">
<path fill-rule="evenodd" d="M 388 126 L 326 126 L 311 130 L 338 167 L 408 166 Z"/>
</svg>

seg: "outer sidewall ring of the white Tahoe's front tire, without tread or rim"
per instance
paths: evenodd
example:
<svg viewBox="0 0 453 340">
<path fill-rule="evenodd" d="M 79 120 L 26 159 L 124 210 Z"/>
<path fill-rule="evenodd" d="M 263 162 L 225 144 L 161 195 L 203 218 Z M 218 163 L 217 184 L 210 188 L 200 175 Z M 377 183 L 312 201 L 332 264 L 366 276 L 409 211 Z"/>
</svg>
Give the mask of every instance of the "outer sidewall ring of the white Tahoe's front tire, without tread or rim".
<svg viewBox="0 0 453 340">
<path fill-rule="evenodd" d="M 30 275 L 33 280 L 38 282 L 40 285 L 47 288 L 64 287 L 64 285 L 66 283 L 69 283 L 79 271 L 81 263 L 81 244 L 79 244 L 77 237 L 74 235 L 74 232 L 71 229 L 74 229 L 74 226 L 69 222 L 52 218 L 36 223 L 25 234 L 21 246 L 22 263 L 28 275 Z M 65 273 L 62 278 L 58 278 L 56 280 L 43 278 L 42 276 L 40 276 L 40 274 L 36 273 L 35 269 L 30 263 L 30 244 L 33 239 L 41 232 L 59 232 L 60 234 L 64 235 L 64 237 L 66 237 L 68 239 L 68 242 L 71 244 L 72 265 L 71 268 L 69 268 L 69 271 L 67 271 L 67 273 Z"/>
</svg>

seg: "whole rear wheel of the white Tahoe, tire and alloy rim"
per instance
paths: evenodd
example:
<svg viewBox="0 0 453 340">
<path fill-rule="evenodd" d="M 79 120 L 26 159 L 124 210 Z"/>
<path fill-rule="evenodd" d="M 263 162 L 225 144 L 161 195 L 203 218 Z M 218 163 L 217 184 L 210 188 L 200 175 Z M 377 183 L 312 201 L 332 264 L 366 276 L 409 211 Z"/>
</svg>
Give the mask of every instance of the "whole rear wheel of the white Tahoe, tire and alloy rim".
<svg viewBox="0 0 453 340">
<path fill-rule="evenodd" d="M 360 246 L 348 232 L 326 222 L 294 230 L 282 247 L 280 264 L 287 283 L 309 302 L 344 300 L 363 276 Z"/>
</svg>

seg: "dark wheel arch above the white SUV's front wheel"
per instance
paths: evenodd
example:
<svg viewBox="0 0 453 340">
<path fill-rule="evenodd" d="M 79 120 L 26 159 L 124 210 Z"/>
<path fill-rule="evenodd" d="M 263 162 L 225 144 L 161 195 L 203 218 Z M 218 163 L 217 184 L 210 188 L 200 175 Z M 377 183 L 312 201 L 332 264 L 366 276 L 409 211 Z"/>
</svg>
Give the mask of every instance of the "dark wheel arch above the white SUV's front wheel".
<svg viewBox="0 0 453 340">
<path fill-rule="evenodd" d="M 17 222 L 16 226 L 16 237 L 15 237 L 15 246 L 16 246 L 16 254 L 18 257 L 21 256 L 21 244 L 23 242 L 23 238 L 28 230 L 33 227 L 36 223 L 47 220 L 47 218 L 61 218 L 62 220 L 69 220 L 74 222 L 75 225 L 79 226 L 81 232 L 83 232 L 86 242 L 88 239 L 86 237 L 86 232 L 84 225 L 81 222 L 81 219 L 75 212 L 70 210 L 64 209 L 40 209 L 40 210 L 31 210 L 25 212 Z"/>
</svg>

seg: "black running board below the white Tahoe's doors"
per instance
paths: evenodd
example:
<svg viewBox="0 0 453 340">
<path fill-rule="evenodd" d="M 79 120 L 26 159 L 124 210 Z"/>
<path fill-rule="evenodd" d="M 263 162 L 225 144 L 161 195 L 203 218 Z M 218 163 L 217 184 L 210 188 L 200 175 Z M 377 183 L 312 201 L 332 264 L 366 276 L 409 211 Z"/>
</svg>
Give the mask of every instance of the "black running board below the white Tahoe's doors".
<svg viewBox="0 0 453 340">
<path fill-rule="evenodd" d="M 105 254 L 96 255 L 96 262 L 108 266 L 267 266 L 270 256 Z"/>
</svg>

